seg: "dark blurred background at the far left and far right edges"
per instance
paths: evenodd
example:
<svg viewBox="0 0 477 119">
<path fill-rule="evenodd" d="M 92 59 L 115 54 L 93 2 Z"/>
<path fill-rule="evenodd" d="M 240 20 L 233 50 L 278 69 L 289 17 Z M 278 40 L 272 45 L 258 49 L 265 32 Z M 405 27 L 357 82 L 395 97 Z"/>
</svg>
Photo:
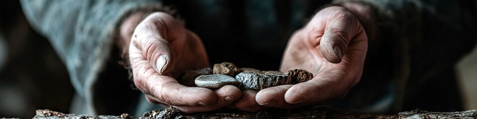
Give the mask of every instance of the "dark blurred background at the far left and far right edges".
<svg viewBox="0 0 477 119">
<path fill-rule="evenodd" d="M 477 49 L 456 67 L 464 109 L 477 109 Z M 0 118 L 32 118 L 37 109 L 68 113 L 73 95 L 64 62 L 29 26 L 19 1 L 0 0 Z"/>
</svg>

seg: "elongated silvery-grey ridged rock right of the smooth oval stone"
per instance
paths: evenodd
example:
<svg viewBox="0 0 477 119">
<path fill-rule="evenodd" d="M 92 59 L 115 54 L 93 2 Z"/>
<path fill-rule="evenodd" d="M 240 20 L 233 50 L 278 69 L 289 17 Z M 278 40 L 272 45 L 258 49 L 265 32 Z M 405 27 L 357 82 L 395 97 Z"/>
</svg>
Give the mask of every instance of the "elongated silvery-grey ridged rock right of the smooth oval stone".
<svg viewBox="0 0 477 119">
<path fill-rule="evenodd" d="M 268 87 L 291 84 L 286 74 L 257 74 L 241 72 L 237 76 L 240 90 L 262 90 Z"/>
</svg>

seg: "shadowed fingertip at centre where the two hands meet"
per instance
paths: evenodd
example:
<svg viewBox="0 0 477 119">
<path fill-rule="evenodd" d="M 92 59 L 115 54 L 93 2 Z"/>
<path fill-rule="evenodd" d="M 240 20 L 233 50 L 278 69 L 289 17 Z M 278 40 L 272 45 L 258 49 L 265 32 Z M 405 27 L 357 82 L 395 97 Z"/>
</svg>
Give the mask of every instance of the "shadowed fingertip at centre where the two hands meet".
<svg viewBox="0 0 477 119">
<path fill-rule="evenodd" d="M 246 90 L 242 92 L 242 97 L 235 103 L 235 106 L 243 111 L 258 112 L 268 107 L 258 105 L 255 101 L 256 91 Z"/>
</svg>

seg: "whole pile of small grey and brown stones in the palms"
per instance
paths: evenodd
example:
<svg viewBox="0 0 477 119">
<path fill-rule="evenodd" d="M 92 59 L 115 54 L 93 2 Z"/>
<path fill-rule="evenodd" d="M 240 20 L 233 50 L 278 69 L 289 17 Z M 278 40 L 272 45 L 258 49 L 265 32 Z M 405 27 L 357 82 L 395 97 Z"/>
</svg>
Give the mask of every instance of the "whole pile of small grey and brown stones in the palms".
<svg viewBox="0 0 477 119">
<path fill-rule="evenodd" d="M 200 68 L 186 70 L 178 78 L 185 86 L 198 86 L 218 89 L 225 85 L 234 85 L 240 90 L 262 90 L 268 87 L 297 84 L 313 78 L 313 74 L 303 70 L 289 70 L 287 74 L 280 71 L 261 71 L 254 68 L 238 68 L 233 63 L 215 64 L 213 69 Z M 191 83 L 194 80 L 194 83 Z"/>
</svg>

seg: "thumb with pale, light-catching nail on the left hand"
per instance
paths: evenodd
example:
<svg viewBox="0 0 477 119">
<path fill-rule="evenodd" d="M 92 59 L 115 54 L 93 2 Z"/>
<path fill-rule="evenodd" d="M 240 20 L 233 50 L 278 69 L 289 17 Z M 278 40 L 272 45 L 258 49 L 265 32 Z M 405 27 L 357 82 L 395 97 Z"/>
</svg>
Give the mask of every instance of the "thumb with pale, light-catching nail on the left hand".
<svg viewBox="0 0 477 119">
<path fill-rule="evenodd" d="M 166 13 L 156 12 L 136 27 L 131 39 L 132 46 L 141 49 L 153 68 L 160 74 L 166 74 L 172 71 L 175 59 L 180 55 L 174 52 L 182 53 L 178 49 L 181 46 L 171 45 L 183 45 L 185 36 L 186 29 L 179 21 Z"/>
</svg>

